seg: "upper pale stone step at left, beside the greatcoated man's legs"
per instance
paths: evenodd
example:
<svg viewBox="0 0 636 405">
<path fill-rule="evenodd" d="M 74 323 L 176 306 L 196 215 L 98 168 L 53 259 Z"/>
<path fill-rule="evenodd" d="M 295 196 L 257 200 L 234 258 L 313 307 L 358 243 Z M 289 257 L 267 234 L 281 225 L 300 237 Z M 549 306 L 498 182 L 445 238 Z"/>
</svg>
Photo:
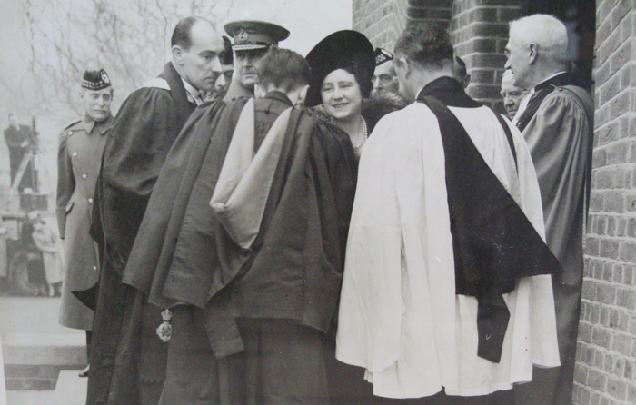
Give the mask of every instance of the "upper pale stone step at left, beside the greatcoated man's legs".
<svg viewBox="0 0 636 405">
<path fill-rule="evenodd" d="M 3 353 L 7 390 L 54 390 L 60 371 L 86 365 L 81 334 L 7 333 Z"/>
</svg>

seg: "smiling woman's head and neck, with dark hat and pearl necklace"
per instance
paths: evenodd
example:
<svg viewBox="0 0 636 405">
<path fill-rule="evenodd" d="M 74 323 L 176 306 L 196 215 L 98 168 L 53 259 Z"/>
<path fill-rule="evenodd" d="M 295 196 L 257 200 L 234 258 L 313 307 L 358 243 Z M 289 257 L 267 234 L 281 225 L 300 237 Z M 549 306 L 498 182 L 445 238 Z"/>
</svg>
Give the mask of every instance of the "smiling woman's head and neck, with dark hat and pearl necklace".
<svg viewBox="0 0 636 405">
<path fill-rule="evenodd" d="M 373 45 L 356 31 L 338 31 L 315 45 L 306 59 L 312 68 L 312 83 L 305 105 L 322 105 L 331 121 L 349 135 L 360 156 L 373 129 L 361 114 L 363 100 L 373 89 Z"/>
</svg>

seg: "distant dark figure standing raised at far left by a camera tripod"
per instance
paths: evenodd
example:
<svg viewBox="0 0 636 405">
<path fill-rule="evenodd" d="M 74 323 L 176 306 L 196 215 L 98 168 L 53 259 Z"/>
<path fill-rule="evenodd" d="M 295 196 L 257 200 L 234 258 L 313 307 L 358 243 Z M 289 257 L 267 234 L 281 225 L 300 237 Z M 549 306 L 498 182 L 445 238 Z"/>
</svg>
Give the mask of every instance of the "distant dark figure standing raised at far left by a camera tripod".
<svg viewBox="0 0 636 405">
<path fill-rule="evenodd" d="M 35 147 L 36 139 L 33 129 L 20 123 L 17 114 L 9 114 L 9 127 L 5 129 L 5 141 L 9 148 L 9 164 L 11 167 L 11 184 L 13 185 L 15 175 L 20 168 L 25 154 L 29 147 Z M 17 189 L 22 191 L 25 188 L 35 190 L 35 171 L 33 160 L 31 160 L 22 175 L 22 180 Z"/>
</svg>

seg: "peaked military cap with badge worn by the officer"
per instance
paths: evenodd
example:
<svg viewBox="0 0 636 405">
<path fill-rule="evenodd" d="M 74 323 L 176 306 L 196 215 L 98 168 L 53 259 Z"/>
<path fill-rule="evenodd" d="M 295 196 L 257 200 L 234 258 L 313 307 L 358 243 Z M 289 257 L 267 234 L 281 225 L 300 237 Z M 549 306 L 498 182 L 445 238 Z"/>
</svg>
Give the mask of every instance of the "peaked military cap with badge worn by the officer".
<svg viewBox="0 0 636 405">
<path fill-rule="evenodd" d="M 234 21 L 224 26 L 227 35 L 234 38 L 234 51 L 253 51 L 278 45 L 289 36 L 289 31 L 281 25 L 264 21 Z"/>
</svg>

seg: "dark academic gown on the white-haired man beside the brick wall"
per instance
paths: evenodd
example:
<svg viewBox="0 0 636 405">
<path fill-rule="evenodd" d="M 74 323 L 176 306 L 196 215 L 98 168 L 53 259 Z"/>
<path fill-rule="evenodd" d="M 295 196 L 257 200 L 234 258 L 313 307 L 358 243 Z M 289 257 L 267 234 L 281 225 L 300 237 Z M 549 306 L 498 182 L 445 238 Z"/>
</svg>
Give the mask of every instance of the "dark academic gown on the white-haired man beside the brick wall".
<svg viewBox="0 0 636 405">
<path fill-rule="evenodd" d="M 563 272 L 552 279 L 561 368 L 535 368 L 532 383 L 515 388 L 520 405 L 570 405 L 572 400 L 593 112 L 590 94 L 581 81 L 573 74 L 559 74 L 535 87 L 519 120 L 539 178 L 546 241 L 563 266 Z"/>
</svg>

